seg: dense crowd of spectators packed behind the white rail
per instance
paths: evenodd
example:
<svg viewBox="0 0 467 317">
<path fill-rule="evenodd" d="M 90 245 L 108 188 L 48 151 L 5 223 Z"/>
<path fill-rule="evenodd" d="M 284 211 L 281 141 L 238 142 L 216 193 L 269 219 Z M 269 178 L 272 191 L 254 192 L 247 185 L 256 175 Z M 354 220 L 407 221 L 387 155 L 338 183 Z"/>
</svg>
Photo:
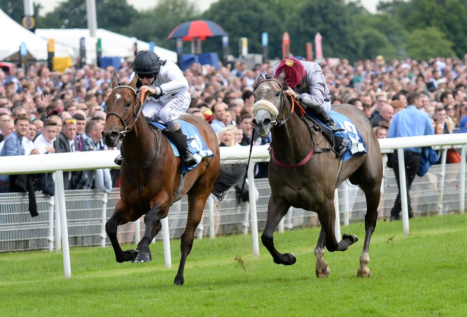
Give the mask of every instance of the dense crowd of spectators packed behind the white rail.
<svg viewBox="0 0 467 317">
<path fill-rule="evenodd" d="M 184 71 L 192 99 L 187 113 L 208 121 L 221 146 L 248 146 L 251 140 L 254 145 L 270 143 L 270 137 L 252 138 L 251 110 L 256 78 L 273 76 L 274 64 L 261 63 L 253 69 L 241 61 L 217 69 L 190 65 Z M 331 102 L 359 108 L 378 138 L 387 136 L 393 116 L 408 106 L 411 93 L 421 95 L 420 109 L 429 114 L 435 133 L 467 131 L 467 55 L 388 62 L 378 56 L 354 64 L 341 59 L 320 65 Z M 119 82 L 129 81 L 131 69 L 131 62 L 124 62 L 120 69 L 85 65 L 59 73 L 37 62 L 27 71 L 16 67 L 11 74 L 0 71 L 0 148 L 4 148 L 0 155 L 107 150 L 101 132 L 111 78 L 116 73 Z M 256 174 L 265 173 L 258 168 Z M 93 178 L 86 171 L 66 175 L 66 188 L 93 188 Z M 3 191 L 8 190 L 7 183 L 0 180 Z"/>
</svg>

